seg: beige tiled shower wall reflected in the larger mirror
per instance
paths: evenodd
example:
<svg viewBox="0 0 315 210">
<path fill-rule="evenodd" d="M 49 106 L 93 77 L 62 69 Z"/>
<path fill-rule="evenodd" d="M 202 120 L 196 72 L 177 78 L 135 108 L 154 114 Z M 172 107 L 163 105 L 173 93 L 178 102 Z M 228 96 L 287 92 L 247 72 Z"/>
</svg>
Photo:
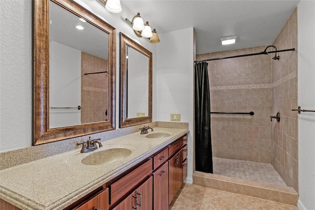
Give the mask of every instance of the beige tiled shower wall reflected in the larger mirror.
<svg viewBox="0 0 315 210">
<path fill-rule="evenodd" d="M 88 53 L 81 53 L 81 123 L 92 123 L 107 120 L 108 109 L 108 74 L 107 60 Z"/>
</svg>

